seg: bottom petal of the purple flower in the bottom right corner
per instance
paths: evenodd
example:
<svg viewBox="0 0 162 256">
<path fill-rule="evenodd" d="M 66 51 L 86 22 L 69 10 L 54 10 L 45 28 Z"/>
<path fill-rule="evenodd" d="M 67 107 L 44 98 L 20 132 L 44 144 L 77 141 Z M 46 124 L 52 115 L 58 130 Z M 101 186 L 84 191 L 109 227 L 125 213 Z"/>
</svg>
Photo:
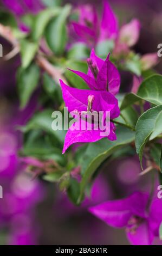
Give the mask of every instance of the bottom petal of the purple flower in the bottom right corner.
<svg viewBox="0 0 162 256">
<path fill-rule="evenodd" d="M 154 238 L 147 221 L 142 222 L 134 233 L 127 232 L 127 237 L 132 245 L 151 245 Z"/>
</svg>

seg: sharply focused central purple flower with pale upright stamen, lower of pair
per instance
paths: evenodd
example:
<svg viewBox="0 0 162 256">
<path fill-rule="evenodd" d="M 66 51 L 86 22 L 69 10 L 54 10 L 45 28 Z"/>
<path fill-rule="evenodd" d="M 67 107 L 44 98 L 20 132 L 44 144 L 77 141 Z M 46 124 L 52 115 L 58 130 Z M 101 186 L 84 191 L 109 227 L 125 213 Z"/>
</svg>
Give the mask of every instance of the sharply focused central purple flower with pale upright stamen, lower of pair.
<svg viewBox="0 0 162 256">
<path fill-rule="evenodd" d="M 103 119 L 105 120 L 105 113 L 109 112 L 110 119 L 114 119 L 119 116 L 120 109 L 118 107 L 118 100 L 109 92 L 99 92 L 96 90 L 81 90 L 76 88 L 71 88 L 63 83 L 60 80 L 63 100 L 65 101 L 66 107 L 68 107 L 69 112 L 97 112 L 102 111 Z M 90 108 L 89 108 L 90 106 Z M 81 124 L 85 125 L 86 129 L 83 130 Z M 102 127 L 98 127 L 95 129 L 95 125 L 92 124 L 92 129 L 87 129 L 87 120 L 80 119 L 75 120 L 75 127 L 78 129 L 73 129 L 74 126 L 70 126 L 66 138 L 64 141 L 63 153 L 67 150 L 67 148 L 73 143 L 77 142 L 95 142 L 99 141 L 99 139 L 103 137 L 107 137 L 111 141 L 116 139 L 115 135 L 115 125 L 110 122 L 109 123 L 109 134 L 106 136 L 101 136 Z"/>
</svg>

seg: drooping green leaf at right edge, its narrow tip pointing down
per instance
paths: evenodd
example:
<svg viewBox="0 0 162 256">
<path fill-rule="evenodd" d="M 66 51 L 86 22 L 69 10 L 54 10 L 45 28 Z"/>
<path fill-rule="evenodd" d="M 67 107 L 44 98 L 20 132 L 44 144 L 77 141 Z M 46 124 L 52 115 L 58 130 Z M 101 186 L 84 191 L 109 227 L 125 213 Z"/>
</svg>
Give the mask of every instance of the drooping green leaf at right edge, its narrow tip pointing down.
<svg viewBox="0 0 162 256">
<path fill-rule="evenodd" d="M 159 113 L 162 111 L 162 105 L 148 109 L 144 114 L 142 114 L 135 127 L 135 147 L 136 151 L 139 154 L 139 160 L 142 167 L 142 153 L 147 143 L 148 139 L 151 136 L 151 133 L 154 131 L 155 123 Z"/>
</svg>

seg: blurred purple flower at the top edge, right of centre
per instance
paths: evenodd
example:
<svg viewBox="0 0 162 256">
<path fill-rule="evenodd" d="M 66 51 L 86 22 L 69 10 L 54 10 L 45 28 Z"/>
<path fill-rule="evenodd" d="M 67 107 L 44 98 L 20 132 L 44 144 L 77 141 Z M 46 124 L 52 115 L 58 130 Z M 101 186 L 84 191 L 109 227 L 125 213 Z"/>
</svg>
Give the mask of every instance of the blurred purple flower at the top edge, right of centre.
<svg viewBox="0 0 162 256">
<path fill-rule="evenodd" d="M 92 46 L 99 41 L 116 38 L 118 34 L 118 21 L 106 0 L 103 1 L 101 21 L 96 13 L 96 9 L 89 5 L 81 6 L 79 13 L 79 22 L 73 22 L 73 26 L 81 41 Z"/>
</svg>

